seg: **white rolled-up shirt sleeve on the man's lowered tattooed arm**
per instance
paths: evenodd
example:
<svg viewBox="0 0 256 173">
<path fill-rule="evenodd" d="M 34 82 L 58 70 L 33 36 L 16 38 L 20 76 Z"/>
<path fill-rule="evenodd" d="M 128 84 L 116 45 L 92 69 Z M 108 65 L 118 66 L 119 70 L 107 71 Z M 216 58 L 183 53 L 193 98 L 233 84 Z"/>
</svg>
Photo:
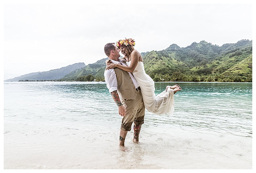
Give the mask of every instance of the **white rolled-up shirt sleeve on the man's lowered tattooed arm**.
<svg viewBox="0 0 256 173">
<path fill-rule="evenodd" d="M 109 93 L 117 90 L 117 80 L 114 69 L 105 70 L 104 77 Z"/>
</svg>

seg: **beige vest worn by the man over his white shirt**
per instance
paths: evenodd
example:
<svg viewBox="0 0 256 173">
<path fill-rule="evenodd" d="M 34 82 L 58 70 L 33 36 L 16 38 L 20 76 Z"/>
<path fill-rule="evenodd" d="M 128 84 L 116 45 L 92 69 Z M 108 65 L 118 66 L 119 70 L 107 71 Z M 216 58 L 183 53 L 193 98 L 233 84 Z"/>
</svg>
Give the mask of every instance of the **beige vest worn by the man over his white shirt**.
<svg viewBox="0 0 256 173">
<path fill-rule="evenodd" d="M 117 91 L 121 95 L 120 97 L 123 99 L 136 99 L 137 90 L 129 73 L 117 67 L 114 68 L 114 71 L 117 79 Z"/>
</svg>

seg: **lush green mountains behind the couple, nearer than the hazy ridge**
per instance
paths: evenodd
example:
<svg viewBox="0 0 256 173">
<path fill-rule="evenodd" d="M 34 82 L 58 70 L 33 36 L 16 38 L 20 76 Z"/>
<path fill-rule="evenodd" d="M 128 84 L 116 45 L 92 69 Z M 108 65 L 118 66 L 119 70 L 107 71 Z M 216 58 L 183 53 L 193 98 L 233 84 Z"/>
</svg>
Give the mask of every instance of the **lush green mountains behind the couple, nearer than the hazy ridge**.
<svg viewBox="0 0 256 173">
<path fill-rule="evenodd" d="M 172 44 L 141 55 L 145 71 L 154 81 L 252 82 L 252 40 L 222 46 L 200 41 L 184 48 Z M 106 59 L 72 71 L 60 81 L 102 81 Z"/>
</svg>

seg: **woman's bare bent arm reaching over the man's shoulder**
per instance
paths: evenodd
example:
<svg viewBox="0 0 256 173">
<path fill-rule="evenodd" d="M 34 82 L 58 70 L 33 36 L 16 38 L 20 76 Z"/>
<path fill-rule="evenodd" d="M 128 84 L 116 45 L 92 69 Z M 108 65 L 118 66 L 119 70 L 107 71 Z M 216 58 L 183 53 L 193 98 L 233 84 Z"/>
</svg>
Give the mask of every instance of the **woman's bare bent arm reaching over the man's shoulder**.
<svg viewBox="0 0 256 173">
<path fill-rule="evenodd" d="M 106 70 L 117 67 L 124 71 L 133 72 L 135 67 L 138 64 L 139 58 L 140 58 L 140 53 L 137 50 L 134 50 L 134 51 L 132 51 L 132 54 L 131 54 L 131 66 L 123 66 L 121 64 L 113 63 L 113 64 L 108 64 L 108 66 L 106 67 Z"/>
</svg>

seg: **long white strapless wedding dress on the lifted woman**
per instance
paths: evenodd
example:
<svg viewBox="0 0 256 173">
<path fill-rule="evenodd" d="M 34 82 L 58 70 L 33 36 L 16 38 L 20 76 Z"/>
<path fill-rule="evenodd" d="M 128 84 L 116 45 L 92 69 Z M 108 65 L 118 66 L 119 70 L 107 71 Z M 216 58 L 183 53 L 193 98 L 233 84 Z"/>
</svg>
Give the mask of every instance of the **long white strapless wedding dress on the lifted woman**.
<svg viewBox="0 0 256 173">
<path fill-rule="evenodd" d="M 130 66 L 130 64 L 131 61 L 127 62 L 128 66 Z M 156 96 L 155 83 L 151 77 L 145 73 L 144 64 L 141 61 L 138 62 L 132 74 L 140 84 L 146 109 L 154 114 L 169 114 L 169 116 L 172 116 L 174 112 L 174 90 L 168 89 L 167 92 L 163 91 Z"/>
</svg>

